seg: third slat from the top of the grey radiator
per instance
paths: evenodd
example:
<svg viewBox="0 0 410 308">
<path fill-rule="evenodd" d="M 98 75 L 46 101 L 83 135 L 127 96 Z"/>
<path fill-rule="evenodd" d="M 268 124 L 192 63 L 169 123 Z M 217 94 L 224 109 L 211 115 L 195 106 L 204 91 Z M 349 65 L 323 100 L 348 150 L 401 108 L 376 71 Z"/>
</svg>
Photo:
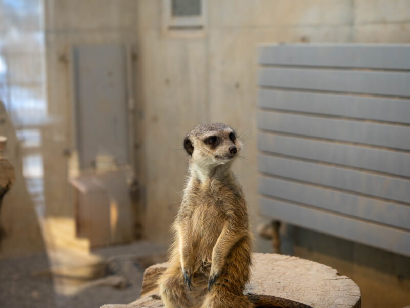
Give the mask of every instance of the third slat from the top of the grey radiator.
<svg viewBox="0 0 410 308">
<path fill-rule="evenodd" d="M 410 123 L 410 99 L 260 89 L 258 102 L 263 108 Z"/>
</svg>

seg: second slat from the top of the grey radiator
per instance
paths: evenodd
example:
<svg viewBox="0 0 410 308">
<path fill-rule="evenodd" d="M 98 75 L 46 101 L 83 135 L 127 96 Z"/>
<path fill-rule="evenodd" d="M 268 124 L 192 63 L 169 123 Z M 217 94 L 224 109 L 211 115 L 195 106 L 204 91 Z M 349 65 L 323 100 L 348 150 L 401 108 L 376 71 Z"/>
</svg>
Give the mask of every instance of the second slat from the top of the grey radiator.
<svg viewBox="0 0 410 308">
<path fill-rule="evenodd" d="M 410 72 L 265 67 L 259 85 L 410 97 Z"/>
</svg>

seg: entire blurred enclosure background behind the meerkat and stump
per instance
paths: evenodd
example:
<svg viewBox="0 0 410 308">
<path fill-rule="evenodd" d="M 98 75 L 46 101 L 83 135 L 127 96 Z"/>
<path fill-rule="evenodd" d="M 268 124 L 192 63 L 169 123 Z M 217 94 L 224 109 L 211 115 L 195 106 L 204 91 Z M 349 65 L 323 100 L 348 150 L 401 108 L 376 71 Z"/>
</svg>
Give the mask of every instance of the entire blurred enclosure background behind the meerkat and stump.
<svg viewBox="0 0 410 308">
<path fill-rule="evenodd" d="M 135 300 L 207 122 L 255 251 L 410 305 L 406 43 L 408 0 L 0 0 L 0 306 Z"/>
</svg>

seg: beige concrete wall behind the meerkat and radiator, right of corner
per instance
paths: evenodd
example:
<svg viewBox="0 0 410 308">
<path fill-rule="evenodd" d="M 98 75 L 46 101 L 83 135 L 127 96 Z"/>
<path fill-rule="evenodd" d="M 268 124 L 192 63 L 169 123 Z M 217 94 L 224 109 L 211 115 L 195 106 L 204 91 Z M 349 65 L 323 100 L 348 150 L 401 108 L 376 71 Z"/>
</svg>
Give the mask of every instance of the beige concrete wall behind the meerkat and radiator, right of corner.
<svg viewBox="0 0 410 308">
<path fill-rule="evenodd" d="M 205 34 L 189 38 L 162 31 L 162 4 L 139 1 L 135 21 L 145 230 L 162 243 L 169 239 L 186 176 L 181 141 L 199 122 L 226 122 L 245 135 L 247 160 L 237 161 L 234 170 L 245 187 L 253 225 L 261 219 L 254 138 L 257 44 L 410 43 L 409 1 L 208 0 Z M 409 258 L 295 230 L 287 238 L 292 252 L 355 279 L 364 307 L 410 304 Z M 263 241 L 256 249 L 269 251 Z"/>
</svg>

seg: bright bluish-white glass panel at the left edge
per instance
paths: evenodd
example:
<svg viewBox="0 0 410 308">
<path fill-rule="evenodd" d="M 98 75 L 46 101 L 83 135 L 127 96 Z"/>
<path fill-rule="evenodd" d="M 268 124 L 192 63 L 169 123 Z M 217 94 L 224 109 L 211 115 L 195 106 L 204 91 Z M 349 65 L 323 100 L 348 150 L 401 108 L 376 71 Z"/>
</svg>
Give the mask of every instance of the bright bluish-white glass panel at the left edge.
<svg viewBox="0 0 410 308">
<path fill-rule="evenodd" d="M 9 159 L 17 171 L 21 164 L 27 192 L 40 214 L 44 202 L 36 200 L 44 199 L 44 172 L 37 127 L 47 122 L 42 0 L 0 1 L 0 30 L 0 100 L 14 126 L 9 138 L 15 133 L 20 146 L 17 156 Z M 4 129 L 0 133 L 7 131 L 10 134 Z"/>
</svg>

